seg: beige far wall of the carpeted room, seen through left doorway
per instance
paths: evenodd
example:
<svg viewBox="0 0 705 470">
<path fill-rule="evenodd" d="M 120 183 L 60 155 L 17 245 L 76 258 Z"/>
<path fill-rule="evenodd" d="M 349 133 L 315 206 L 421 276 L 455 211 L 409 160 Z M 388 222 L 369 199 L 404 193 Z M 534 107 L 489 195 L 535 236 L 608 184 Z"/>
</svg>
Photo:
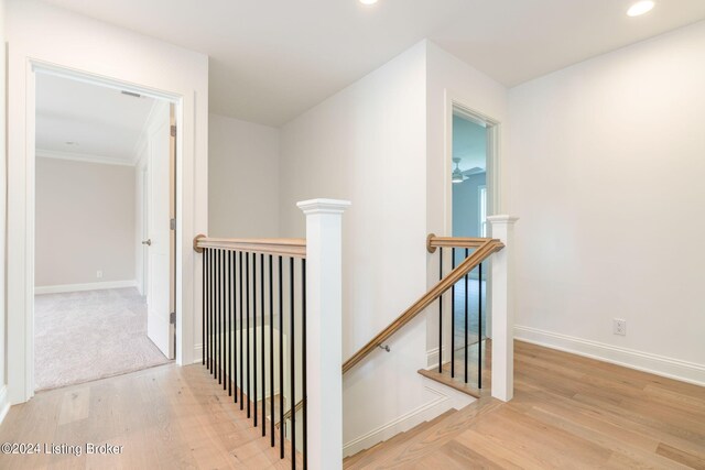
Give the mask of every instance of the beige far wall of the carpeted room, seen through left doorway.
<svg viewBox="0 0 705 470">
<path fill-rule="evenodd" d="M 133 166 L 39 157 L 35 197 L 36 287 L 134 280 Z"/>
</svg>

